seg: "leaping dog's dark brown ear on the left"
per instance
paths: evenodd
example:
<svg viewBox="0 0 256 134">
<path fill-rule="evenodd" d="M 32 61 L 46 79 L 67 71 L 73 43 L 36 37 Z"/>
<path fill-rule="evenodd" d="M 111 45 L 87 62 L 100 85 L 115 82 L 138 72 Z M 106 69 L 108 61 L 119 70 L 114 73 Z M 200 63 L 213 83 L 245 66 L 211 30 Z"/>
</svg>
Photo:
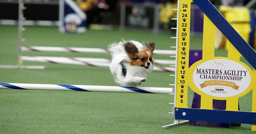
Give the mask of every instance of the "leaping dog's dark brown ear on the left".
<svg viewBox="0 0 256 134">
<path fill-rule="evenodd" d="M 123 46 L 130 59 L 137 60 L 139 58 L 139 50 L 132 42 L 126 42 Z"/>
</svg>

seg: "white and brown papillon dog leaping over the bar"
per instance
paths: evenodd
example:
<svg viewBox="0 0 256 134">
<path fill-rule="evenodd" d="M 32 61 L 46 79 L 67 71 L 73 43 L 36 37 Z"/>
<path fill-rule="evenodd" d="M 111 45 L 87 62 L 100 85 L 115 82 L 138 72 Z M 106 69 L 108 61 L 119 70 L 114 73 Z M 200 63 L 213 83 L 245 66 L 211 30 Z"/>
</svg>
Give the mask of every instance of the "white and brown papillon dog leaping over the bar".
<svg viewBox="0 0 256 134">
<path fill-rule="evenodd" d="M 109 45 L 108 48 L 112 55 L 109 68 L 116 83 L 137 87 L 147 80 L 154 68 L 154 42 L 145 42 L 142 45 L 136 41 L 123 40 Z"/>
</svg>

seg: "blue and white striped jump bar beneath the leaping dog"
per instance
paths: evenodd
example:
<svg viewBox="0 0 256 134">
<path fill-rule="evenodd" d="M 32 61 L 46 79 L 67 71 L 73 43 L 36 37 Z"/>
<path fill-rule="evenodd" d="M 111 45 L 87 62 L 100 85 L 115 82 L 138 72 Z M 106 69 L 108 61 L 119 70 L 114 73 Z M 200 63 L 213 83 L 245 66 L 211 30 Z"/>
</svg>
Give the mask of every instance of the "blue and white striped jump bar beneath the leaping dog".
<svg viewBox="0 0 256 134">
<path fill-rule="evenodd" d="M 173 88 L 152 87 L 118 87 L 102 85 L 54 85 L 54 84 L 25 84 L 25 83 L 0 83 L 0 89 L 19 90 L 60 90 L 60 91 L 88 91 L 88 92 L 139 92 L 155 94 L 173 94 Z"/>
</svg>

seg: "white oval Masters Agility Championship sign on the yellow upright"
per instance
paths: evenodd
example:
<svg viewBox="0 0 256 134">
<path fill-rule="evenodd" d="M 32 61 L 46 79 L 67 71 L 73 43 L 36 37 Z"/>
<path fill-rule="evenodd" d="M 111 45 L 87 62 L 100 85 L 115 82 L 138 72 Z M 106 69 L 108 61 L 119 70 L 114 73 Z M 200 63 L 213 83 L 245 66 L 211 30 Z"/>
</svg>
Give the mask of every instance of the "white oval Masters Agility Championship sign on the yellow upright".
<svg viewBox="0 0 256 134">
<path fill-rule="evenodd" d="M 232 97 L 244 92 L 251 76 L 241 64 L 226 59 L 208 60 L 193 72 L 196 87 L 214 97 Z"/>
</svg>

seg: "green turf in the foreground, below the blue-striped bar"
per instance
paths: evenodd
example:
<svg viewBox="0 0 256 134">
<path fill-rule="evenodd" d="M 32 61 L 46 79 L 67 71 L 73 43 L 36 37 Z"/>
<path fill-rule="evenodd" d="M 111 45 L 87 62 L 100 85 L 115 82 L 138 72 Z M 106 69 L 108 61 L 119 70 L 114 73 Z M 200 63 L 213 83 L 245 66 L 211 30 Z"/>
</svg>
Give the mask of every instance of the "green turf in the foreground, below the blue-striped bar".
<svg viewBox="0 0 256 134">
<path fill-rule="evenodd" d="M 249 125 L 229 129 L 182 125 L 161 129 L 173 118 L 170 95 L 109 92 L 1 90 L 4 134 L 249 134 Z M 4 102 L 4 103 L 3 103 Z M 255 133 L 255 132 L 254 132 Z"/>
</svg>

